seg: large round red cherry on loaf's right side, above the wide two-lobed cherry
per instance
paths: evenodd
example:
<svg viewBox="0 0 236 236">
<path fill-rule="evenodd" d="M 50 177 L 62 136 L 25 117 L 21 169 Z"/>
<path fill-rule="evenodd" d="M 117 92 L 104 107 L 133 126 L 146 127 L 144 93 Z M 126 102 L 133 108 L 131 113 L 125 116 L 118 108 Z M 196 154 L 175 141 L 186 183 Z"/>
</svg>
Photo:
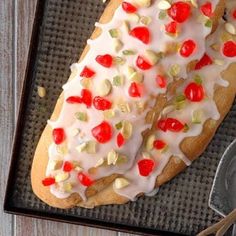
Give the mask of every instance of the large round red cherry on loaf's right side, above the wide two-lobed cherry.
<svg viewBox="0 0 236 236">
<path fill-rule="evenodd" d="M 201 102 L 205 92 L 201 84 L 192 82 L 185 88 L 184 94 L 191 102 Z"/>
</svg>

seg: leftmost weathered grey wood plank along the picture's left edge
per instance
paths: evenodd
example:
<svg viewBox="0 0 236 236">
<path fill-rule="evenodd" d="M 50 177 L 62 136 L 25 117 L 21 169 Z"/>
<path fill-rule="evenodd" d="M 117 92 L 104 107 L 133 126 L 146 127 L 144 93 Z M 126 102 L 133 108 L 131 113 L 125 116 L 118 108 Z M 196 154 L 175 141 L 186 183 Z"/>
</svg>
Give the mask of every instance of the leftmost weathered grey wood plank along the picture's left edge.
<svg viewBox="0 0 236 236">
<path fill-rule="evenodd" d="M 12 94 L 12 4 L 0 1 L 0 235 L 12 234 L 13 217 L 3 213 L 3 199 L 8 175 L 10 143 L 13 131 Z"/>
</svg>

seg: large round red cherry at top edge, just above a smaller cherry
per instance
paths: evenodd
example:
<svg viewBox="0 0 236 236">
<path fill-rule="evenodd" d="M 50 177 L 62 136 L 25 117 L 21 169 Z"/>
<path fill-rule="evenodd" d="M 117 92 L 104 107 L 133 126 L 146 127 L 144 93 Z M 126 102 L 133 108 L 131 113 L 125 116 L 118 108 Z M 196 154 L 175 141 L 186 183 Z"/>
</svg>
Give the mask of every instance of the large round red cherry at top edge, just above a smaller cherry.
<svg viewBox="0 0 236 236">
<path fill-rule="evenodd" d="M 186 2 L 175 2 L 168 9 L 168 15 L 176 22 L 185 22 L 191 14 L 191 6 Z"/>
</svg>

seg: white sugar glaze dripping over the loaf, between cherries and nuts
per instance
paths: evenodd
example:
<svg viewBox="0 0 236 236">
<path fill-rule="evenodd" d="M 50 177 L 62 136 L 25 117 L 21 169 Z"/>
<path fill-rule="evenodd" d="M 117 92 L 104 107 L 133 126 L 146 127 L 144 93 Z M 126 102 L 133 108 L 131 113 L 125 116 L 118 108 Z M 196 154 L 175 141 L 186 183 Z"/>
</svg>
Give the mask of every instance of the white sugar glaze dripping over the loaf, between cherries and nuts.
<svg viewBox="0 0 236 236">
<path fill-rule="evenodd" d="M 220 118 L 219 112 L 217 110 L 216 104 L 213 100 L 214 87 L 216 84 L 222 86 L 227 86 L 227 83 L 223 81 L 220 77 L 220 73 L 225 70 L 228 65 L 235 61 L 234 58 L 229 59 L 219 52 L 215 52 L 211 49 L 212 43 L 215 43 L 217 38 L 220 38 L 220 34 L 224 30 L 224 22 L 221 22 L 221 26 L 218 27 L 217 31 L 212 34 L 206 40 L 206 37 L 211 32 L 211 27 L 205 26 L 205 23 L 202 20 L 199 20 L 200 13 L 199 8 L 191 7 L 192 14 L 189 19 L 180 24 L 180 33 L 176 37 L 171 37 L 165 32 L 165 25 L 171 21 L 169 16 L 166 16 L 164 19 L 159 19 L 160 9 L 157 7 L 160 1 L 153 1 L 152 5 L 147 8 L 138 8 L 136 14 L 139 16 L 148 16 L 151 18 L 151 23 L 146 26 L 151 32 L 151 40 L 149 44 L 144 44 L 138 39 L 130 36 L 128 31 L 125 30 L 124 21 L 128 21 L 130 29 L 133 29 L 137 26 L 143 26 L 141 23 L 137 23 L 130 20 L 130 14 L 127 14 L 122 7 L 120 6 L 113 19 L 104 25 L 96 24 L 97 27 L 102 29 L 101 35 L 95 40 L 88 40 L 90 50 L 80 63 L 72 65 L 72 75 L 67 84 L 63 86 L 64 89 L 64 103 L 60 112 L 60 115 L 56 121 L 49 121 L 53 129 L 63 128 L 66 134 L 66 140 L 63 144 L 57 145 L 52 143 L 49 148 L 49 164 L 46 171 L 47 177 L 57 177 L 58 175 L 64 173 L 62 166 L 60 168 L 51 168 L 51 163 L 53 161 L 68 161 L 70 163 L 76 161 L 79 164 L 79 167 L 72 169 L 63 180 L 57 181 L 57 184 L 51 185 L 50 190 L 58 198 L 66 198 L 72 193 L 76 192 L 81 195 L 85 200 L 85 190 L 86 187 L 83 186 L 78 181 L 78 173 L 81 171 L 92 180 L 97 180 L 102 177 L 110 176 L 111 174 L 122 174 L 124 178 L 129 181 L 129 185 L 124 188 L 114 188 L 114 190 L 121 195 L 128 197 L 129 199 L 134 199 L 139 193 L 150 193 L 154 189 L 155 180 L 158 175 L 160 175 L 168 163 L 171 156 L 178 156 L 181 158 L 187 165 L 190 164 L 188 158 L 180 150 L 180 143 L 186 137 L 197 136 L 201 133 L 204 122 L 211 118 L 218 120 Z M 173 3 L 178 1 L 173 1 Z M 206 3 L 205 0 L 197 1 L 198 5 Z M 212 0 L 212 8 L 215 9 L 215 6 L 219 0 Z M 232 1 L 230 1 L 232 3 Z M 236 5 L 236 4 L 234 4 Z M 203 15 L 202 15 L 203 17 Z M 207 18 L 205 17 L 204 20 Z M 119 29 L 119 40 L 122 42 L 123 46 L 119 52 L 114 50 L 113 41 L 109 30 Z M 219 37 L 218 37 L 219 36 Z M 146 50 L 152 50 L 154 52 L 165 52 L 167 44 L 170 43 L 179 43 L 182 44 L 185 40 L 192 39 L 195 41 L 197 48 L 189 57 L 183 57 L 178 52 L 172 53 L 171 55 L 165 55 L 157 65 L 149 70 L 140 70 L 135 65 L 135 61 L 138 55 L 144 56 Z M 135 55 L 123 56 L 122 51 L 124 50 L 133 50 Z M 218 60 L 224 61 L 224 65 L 208 65 L 203 67 L 201 70 L 187 72 L 187 65 L 194 61 L 200 60 L 204 53 L 211 58 L 217 58 Z M 111 54 L 114 57 L 122 57 L 125 59 L 123 65 L 112 65 L 111 68 L 105 68 L 96 62 L 95 58 L 98 55 Z M 177 65 L 180 69 L 177 76 L 171 76 L 168 73 L 173 65 Z M 69 104 L 66 102 L 66 99 L 71 96 L 80 96 L 83 86 L 81 85 L 80 73 L 85 66 L 88 66 L 93 71 L 96 72 L 95 76 L 90 79 L 91 85 L 89 90 L 92 93 L 92 96 L 98 96 L 100 94 L 100 88 L 102 81 L 108 79 L 112 83 L 112 78 L 116 75 L 124 77 L 124 84 L 122 86 L 112 86 L 112 91 L 105 96 L 104 98 L 108 99 L 113 103 L 112 109 L 115 113 L 115 116 L 111 119 L 105 119 L 112 126 L 112 138 L 109 142 L 98 143 L 97 150 L 94 154 L 89 154 L 85 151 L 79 152 L 78 148 L 81 148 L 83 144 L 87 142 L 96 142 L 96 139 L 91 133 L 93 127 L 99 125 L 104 121 L 104 112 L 97 110 L 94 106 L 87 108 L 83 104 Z M 135 68 L 139 73 L 143 75 L 143 92 L 141 97 L 131 97 L 128 93 L 129 86 L 131 81 L 127 76 L 127 67 L 131 66 Z M 161 139 L 168 143 L 168 150 L 163 153 L 160 151 L 152 149 L 149 151 L 149 157 L 153 158 L 157 163 L 153 172 L 148 177 L 143 177 L 139 174 L 137 162 L 143 159 L 143 152 L 146 152 L 145 147 L 142 147 L 143 137 L 142 132 L 151 128 L 152 123 L 147 123 L 145 120 L 146 114 L 150 111 L 155 104 L 155 97 L 158 94 L 166 93 L 166 87 L 160 88 L 156 84 L 156 76 L 158 74 L 163 74 L 165 72 L 167 82 L 171 84 L 173 79 L 184 78 L 186 79 L 178 88 L 178 91 L 183 93 L 184 88 L 192 81 L 196 75 L 199 75 L 203 81 L 203 87 L 207 95 L 207 99 L 204 99 L 201 102 L 186 102 L 186 106 L 180 110 L 173 110 L 168 113 L 168 117 L 176 118 L 182 122 L 188 124 L 187 132 L 162 132 L 160 130 L 155 131 L 154 135 L 156 138 Z M 168 76 L 167 76 L 168 75 Z M 123 101 L 125 104 L 129 104 L 130 112 L 121 112 L 117 104 Z M 139 112 L 136 108 L 136 103 L 146 104 L 142 112 Z M 191 122 L 192 113 L 201 109 L 203 115 L 201 117 L 201 124 L 193 124 Z M 75 117 L 75 113 L 82 112 L 86 113 L 88 120 L 81 121 Z M 128 121 L 133 126 L 133 132 L 131 137 L 126 140 L 125 144 L 118 148 L 117 147 L 117 135 L 120 130 L 116 130 L 115 126 L 121 121 Z M 76 130 L 78 131 L 77 133 Z M 97 165 L 97 163 L 103 158 L 106 160 L 106 157 L 109 152 L 115 150 L 121 155 L 127 157 L 127 162 L 122 162 L 121 164 L 115 163 L 114 165 L 102 165 L 96 168 L 95 171 L 91 172 L 90 170 Z M 80 169 L 81 168 L 81 169 Z M 64 185 L 66 183 L 71 184 L 71 188 L 65 191 Z"/>
</svg>

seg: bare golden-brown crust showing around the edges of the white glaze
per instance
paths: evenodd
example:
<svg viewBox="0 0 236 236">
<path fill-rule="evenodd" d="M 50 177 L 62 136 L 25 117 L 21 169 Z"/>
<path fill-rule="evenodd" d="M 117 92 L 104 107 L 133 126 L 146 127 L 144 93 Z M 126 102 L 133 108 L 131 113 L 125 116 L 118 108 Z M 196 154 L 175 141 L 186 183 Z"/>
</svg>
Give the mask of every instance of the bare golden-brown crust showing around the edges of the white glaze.
<svg viewBox="0 0 236 236">
<path fill-rule="evenodd" d="M 102 15 L 100 22 L 105 23 L 108 22 L 116 8 L 120 5 L 121 0 L 112 0 L 110 4 L 107 6 L 104 14 Z M 222 1 L 221 3 L 223 3 Z M 224 10 L 223 5 L 217 10 L 217 16 L 222 15 Z M 216 18 L 217 19 L 217 18 Z M 215 19 L 215 22 L 217 20 Z M 216 25 L 216 24 L 215 24 Z M 91 38 L 96 38 L 100 34 L 100 30 L 96 29 L 92 34 Z M 87 46 L 81 56 L 81 59 L 86 55 L 89 47 Z M 216 125 L 213 127 L 210 125 L 211 121 L 207 121 L 204 125 L 204 129 L 201 135 L 193 138 L 185 139 L 181 144 L 182 151 L 189 157 L 191 160 L 195 160 L 206 148 L 211 138 L 213 137 L 217 127 L 224 119 L 225 115 L 229 111 L 232 102 L 234 100 L 236 85 L 233 83 L 233 75 L 236 74 L 236 64 L 230 66 L 229 69 L 224 73 L 224 78 L 229 81 L 230 86 L 227 88 L 217 87 L 215 91 L 215 101 L 217 103 L 218 109 L 221 114 L 221 119 L 217 121 Z M 222 97 L 225 99 L 222 100 Z M 57 119 L 60 114 L 60 110 L 63 103 L 63 94 L 58 99 L 55 110 L 51 117 L 52 120 Z M 43 134 L 38 143 L 32 170 L 31 170 L 31 182 L 34 193 L 48 205 L 57 207 L 57 208 L 70 208 L 76 205 L 84 206 L 84 207 L 94 207 L 97 205 L 104 204 L 123 204 L 128 201 L 125 197 L 117 195 L 112 188 L 112 182 L 116 178 L 116 175 L 112 175 L 110 177 L 106 177 L 100 179 L 94 184 L 92 187 L 88 188 L 86 191 L 86 196 L 90 197 L 86 203 L 81 202 L 81 197 L 74 193 L 70 197 L 66 199 L 58 199 L 54 195 L 50 193 L 49 188 L 45 188 L 42 186 L 41 181 L 45 177 L 46 167 L 48 163 L 48 147 L 51 144 L 51 128 L 47 125 L 43 131 Z M 194 143 L 194 145 L 192 145 Z M 191 147 L 191 149 L 189 148 Z M 193 148 L 195 147 L 195 148 Z M 185 169 L 185 164 L 182 161 L 176 161 L 176 158 L 172 157 L 165 167 L 163 173 L 158 176 L 156 186 L 160 186 L 165 182 L 172 179 L 179 172 Z M 108 187 L 107 187 L 108 186 Z"/>
</svg>

